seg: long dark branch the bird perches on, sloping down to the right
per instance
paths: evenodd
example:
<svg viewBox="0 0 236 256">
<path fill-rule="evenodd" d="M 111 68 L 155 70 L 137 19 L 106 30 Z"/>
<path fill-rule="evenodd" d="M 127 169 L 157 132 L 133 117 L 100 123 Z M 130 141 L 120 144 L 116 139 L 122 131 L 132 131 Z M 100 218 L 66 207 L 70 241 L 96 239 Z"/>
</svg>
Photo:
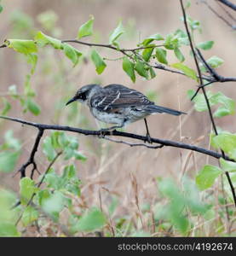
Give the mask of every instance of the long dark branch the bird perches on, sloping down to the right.
<svg viewBox="0 0 236 256">
<path fill-rule="evenodd" d="M 63 126 L 63 125 L 45 125 L 45 124 L 39 124 L 39 123 L 33 123 L 33 122 L 29 122 L 23 119 L 15 119 L 15 118 L 11 118 L 11 117 L 6 117 L 6 116 L 0 116 L 1 119 L 7 119 L 7 120 L 11 120 L 23 125 L 29 125 L 29 126 L 33 126 L 37 129 L 42 129 L 44 130 L 55 130 L 55 131 L 71 131 L 71 132 L 76 132 L 79 134 L 83 134 L 85 136 L 96 136 L 96 137 L 101 137 L 101 131 L 89 131 L 89 130 L 83 130 L 80 128 L 75 128 L 75 127 L 71 127 L 71 126 Z M 133 133 L 129 133 L 129 132 L 123 132 L 123 131 L 106 131 L 106 132 L 102 132 L 104 137 L 110 137 L 110 136 L 117 136 L 117 137 L 130 137 L 132 139 L 135 140 L 139 140 L 142 142 L 146 142 L 147 141 L 147 137 L 146 136 L 141 136 L 141 135 L 137 135 L 137 134 L 133 134 Z M 163 145 L 162 147 L 174 147 L 174 148 L 185 148 L 185 149 L 189 149 L 189 150 L 193 150 L 202 154 L 207 154 L 210 155 L 216 159 L 220 159 L 221 157 L 223 157 L 222 154 L 219 154 L 215 151 L 206 149 L 206 148 L 200 148 L 197 147 L 195 145 L 191 145 L 191 144 L 187 144 L 187 143 L 179 143 L 179 142 L 173 142 L 170 140 L 164 140 L 164 139 L 159 139 L 159 138 L 150 138 L 152 143 L 158 143 L 159 145 Z M 159 146 L 158 146 L 159 148 Z M 225 158 L 226 160 L 230 160 L 233 161 L 233 159 L 230 159 L 228 156 L 226 156 Z"/>
</svg>

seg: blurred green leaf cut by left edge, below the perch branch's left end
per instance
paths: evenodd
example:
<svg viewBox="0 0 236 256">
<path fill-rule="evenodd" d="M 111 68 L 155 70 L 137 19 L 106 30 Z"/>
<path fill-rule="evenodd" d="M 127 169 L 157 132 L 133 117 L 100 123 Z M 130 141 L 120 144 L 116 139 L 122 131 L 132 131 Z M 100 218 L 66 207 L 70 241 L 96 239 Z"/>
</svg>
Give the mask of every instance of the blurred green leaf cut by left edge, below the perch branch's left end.
<svg viewBox="0 0 236 256">
<path fill-rule="evenodd" d="M 3 151 L 0 153 L 0 172 L 12 172 L 20 152 Z"/>
</svg>

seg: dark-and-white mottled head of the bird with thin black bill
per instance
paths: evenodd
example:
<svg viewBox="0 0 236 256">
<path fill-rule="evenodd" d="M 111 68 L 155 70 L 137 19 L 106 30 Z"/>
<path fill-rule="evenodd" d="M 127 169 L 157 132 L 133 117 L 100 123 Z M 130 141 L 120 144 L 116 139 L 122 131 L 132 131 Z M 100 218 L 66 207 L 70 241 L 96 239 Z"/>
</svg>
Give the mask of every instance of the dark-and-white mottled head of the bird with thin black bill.
<svg viewBox="0 0 236 256">
<path fill-rule="evenodd" d="M 66 105 L 72 103 L 72 102 L 82 102 L 85 103 L 87 102 L 87 100 L 89 99 L 89 96 L 91 96 L 91 94 L 95 93 L 95 90 L 101 88 L 100 85 L 98 84 L 87 84 L 87 85 L 83 85 L 83 87 L 81 87 L 77 93 L 75 94 L 75 96 L 72 97 L 72 99 L 70 99 L 68 102 L 66 102 Z"/>
</svg>

